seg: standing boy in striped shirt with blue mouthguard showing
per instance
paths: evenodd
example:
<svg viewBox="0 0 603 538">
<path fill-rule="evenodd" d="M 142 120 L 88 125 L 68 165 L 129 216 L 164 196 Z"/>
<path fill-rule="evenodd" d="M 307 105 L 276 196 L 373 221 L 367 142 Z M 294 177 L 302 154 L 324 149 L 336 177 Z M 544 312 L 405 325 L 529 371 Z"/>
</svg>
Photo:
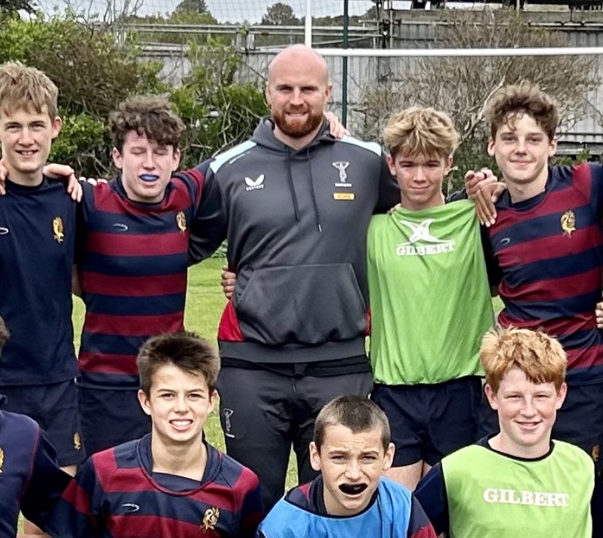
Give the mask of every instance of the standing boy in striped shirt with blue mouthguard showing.
<svg viewBox="0 0 603 538">
<path fill-rule="evenodd" d="M 149 432 L 136 396 L 136 355 L 148 337 L 184 328 L 190 223 L 200 207 L 210 221 L 221 219 L 209 207 L 203 165 L 174 174 L 184 124 L 169 102 L 131 98 L 111 114 L 110 126 L 121 174 L 97 186 L 84 183 L 77 214 L 86 306 L 79 402 L 89 454 Z M 221 239 L 212 242 L 212 232 L 220 228 L 205 226 L 198 248 L 213 252 Z"/>
</svg>

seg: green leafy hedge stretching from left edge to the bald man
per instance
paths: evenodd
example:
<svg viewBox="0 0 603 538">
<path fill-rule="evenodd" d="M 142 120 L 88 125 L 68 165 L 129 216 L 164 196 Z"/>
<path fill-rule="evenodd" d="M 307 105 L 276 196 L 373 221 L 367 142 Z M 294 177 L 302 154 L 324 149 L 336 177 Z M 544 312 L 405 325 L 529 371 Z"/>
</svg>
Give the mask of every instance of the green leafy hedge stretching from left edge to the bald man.
<svg viewBox="0 0 603 538">
<path fill-rule="evenodd" d="M 111 32 L 81 24 L 73 15 L 37 15 L 30 21 L 12 17 L 0 28 L 0 62 L 35 66 L 59 88 L 63 129 L 52 145 L 51 160 L 90 177 L 111 175 L 107 118 L 131 95 L 162 94 L 173 102 L 186 124 L 183 167 L 251 134 L 267 109 L 255 86 L 234 82 L 240 63 L 236 50 L 211 40 L 207 46 L 191 44 L 189 57 L 191 75 L 182 86 L 170 88 L 159 78 L 159 62 L 141 61 L 135 44 L 118 45 Z"/>
</svg>

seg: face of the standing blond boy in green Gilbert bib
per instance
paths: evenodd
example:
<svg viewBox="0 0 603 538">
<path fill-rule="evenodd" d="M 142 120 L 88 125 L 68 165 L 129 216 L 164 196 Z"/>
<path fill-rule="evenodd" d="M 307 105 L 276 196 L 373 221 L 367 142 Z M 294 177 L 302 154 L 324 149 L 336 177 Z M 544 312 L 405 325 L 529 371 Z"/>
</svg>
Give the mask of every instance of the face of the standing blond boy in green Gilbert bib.
<svg viewBox="0 0 603 538">
<path fill-rule="evenodd" d="M 418 211 L 443 205 L 442 182 L 450 171 L 452 157 L 410 156 L 399 151 L 387 156 L 387 165 L 400 187 L 402 207 Z"/>
</svg>

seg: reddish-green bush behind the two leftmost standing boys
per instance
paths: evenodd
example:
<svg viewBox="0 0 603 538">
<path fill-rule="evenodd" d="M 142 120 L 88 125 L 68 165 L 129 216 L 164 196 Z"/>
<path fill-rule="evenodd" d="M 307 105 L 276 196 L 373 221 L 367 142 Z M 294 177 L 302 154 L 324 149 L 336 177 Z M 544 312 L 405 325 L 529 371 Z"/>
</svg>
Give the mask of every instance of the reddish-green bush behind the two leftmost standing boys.
<svg viewBox="0 0 603 538">
<path fill-rule="evenodd" d="M 117 46 L 109 32 L 73 19 L 10 19 L 0 29 L 0 62 L 19 60 L 44 71 L 59 88 L 61 136 L 50 159 L 88 177 L 111 173 L 109 111 L 133 93 L 161 93 L 160 64 L 141 62 L 137 49 Z"/>
</svg>

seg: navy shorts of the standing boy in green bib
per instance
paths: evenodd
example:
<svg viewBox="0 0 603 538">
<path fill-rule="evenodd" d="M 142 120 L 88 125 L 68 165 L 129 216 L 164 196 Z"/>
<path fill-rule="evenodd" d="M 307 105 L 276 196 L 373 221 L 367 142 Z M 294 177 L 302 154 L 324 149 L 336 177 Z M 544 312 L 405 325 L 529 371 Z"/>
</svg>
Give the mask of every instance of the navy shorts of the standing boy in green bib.
<svg viewBox="0 0 603 538">
<path fill-rule="evenodd" d="M 394 467 L 434 465 L 475 443 L 480 395 L 481 378 L 473 375 L 434 384 L 375 384 L 371 399 L 390 420 Z"/>
</svg>

